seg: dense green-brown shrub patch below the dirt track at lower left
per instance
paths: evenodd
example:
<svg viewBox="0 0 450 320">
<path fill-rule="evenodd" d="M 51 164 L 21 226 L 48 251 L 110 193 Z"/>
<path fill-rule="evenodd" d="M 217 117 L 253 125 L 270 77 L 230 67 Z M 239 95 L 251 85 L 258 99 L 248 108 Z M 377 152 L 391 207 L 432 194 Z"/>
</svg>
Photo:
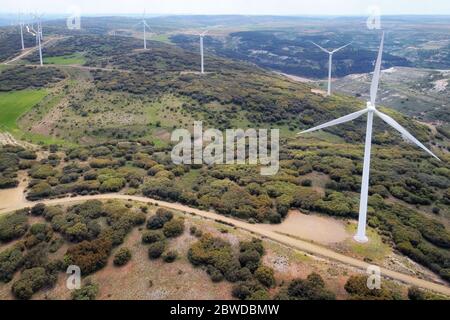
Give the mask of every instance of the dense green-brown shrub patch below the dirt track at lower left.
<svg viewBox="0 0 450 320">
<path fill-rule="evenodd" d="M 30 224 L 30 216 L 42 222 Z M 140 209 L 116 201 L 87 201 L 67 209 L 37 204 L 2 216 L 1 242 L 17 242 L 0 252 L 0 281 L 10 282 L 21 271 L 12 291 L 19 299 L 29 299 L 54 285 L 57 274 L 65 272 L 68 265 L 79 266 L 83 275 L 94 273 L 106 265 L 112 250 L 123 243 L 127 234 L 145 220 Z M 54 254 L 64 243 L 68 243 L 64 258 L 55 259 Z M 114 263 L 121 266 L 130 259 L 131 252 L 121 248 Z M 88 289 L 74 293 L 74 299 L 92 296 L 93 288 Z"/>
</svg>

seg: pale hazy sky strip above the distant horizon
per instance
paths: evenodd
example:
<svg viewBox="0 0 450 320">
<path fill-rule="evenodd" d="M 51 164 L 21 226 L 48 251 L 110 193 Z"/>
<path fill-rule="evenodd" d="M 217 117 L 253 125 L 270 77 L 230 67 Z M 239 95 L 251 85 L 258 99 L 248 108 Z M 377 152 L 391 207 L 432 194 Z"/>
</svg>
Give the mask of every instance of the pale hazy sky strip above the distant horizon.
<svg viewBox="0 0 450 320">
<path fill-rule="evenodd" d="M 450 14 L 450 0 L 0 0 L 0 12 L 366 15 L 373 5 L 382 14 Z"/>
</svg>

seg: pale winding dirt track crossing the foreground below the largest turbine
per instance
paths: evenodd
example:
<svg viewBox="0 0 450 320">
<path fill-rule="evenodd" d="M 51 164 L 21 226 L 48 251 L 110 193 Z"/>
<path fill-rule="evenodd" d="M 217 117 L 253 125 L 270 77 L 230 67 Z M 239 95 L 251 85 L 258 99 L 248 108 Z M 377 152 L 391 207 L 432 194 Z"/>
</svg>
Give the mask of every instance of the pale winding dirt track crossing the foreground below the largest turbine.
<svg viewBox="0 0 450 320">
<path fill-rule="evenodd" d="M 343 263 L 345 265 L 361 269 L 363 271 L 367 270 L 367 268 L 370 266 L 369 263 L 366 263 L 364 261 L 345 256 L 343 254 L 334 252 L 330 249 L 321 247 L 319 245 L 315 245 L 315 244 L 312 244 L 312 243 L 309 243 L 306 241 L 302 241 L 302 240 L 294 239 L 294 238 L 291 238 L 291 237 L 288 237 L 285 235 L 281 235 L 274 231 L 267 230 L 258 224 L 249 224 L 249 223 L 246 223 L 246 222 L 243 222 L 240 220 L 236 220 L 236 219 L 232 219 L 232 218 L 228 218 L 228 217 L 219 215 L 214 212 L 202 211 L 202 210 L 190 208 L 190 207 L 178 204 L 178 203 L 169 203 L 169 202 L 153 200 L 153 199 L 149 199 L 149 198 L 145 198 L 145 197 L 127 196 L 127 195 L 120 195 L 120 194 L 103 194 L 103 195 L 95 195 L 95 196 L 54 199 L 54 200 L 41 201 L 41 203 L 44 203 L 46 205 L 58 205 L 58 204 L 80 202 L 80 201 L 87 201 L 87 200 L 110 200 L 110 199 L 132 200 L 132 201 L 137 201 L 137 202 L 142 202 L 142 203 L 148 203 L 148 204 L 158 205 L 160 207 L 164 207 L 164 208 L 168 208 L 168 209 L 173 209 L 173 210 L 186 212 L 189 214 L 194 214 L 196 216 L 200 216 L 200 217 L 210 219 L 210 220 L 222 221 L 225 223 L 232 224 L 239 229 L 249 231 L 260 237 L 271 239 L 273 241 L 276 241 L 278 243 L 281 243 L 281 244 L 291 247 L 293 249 L 297 249 L 297 250 L 300 250 L 300 251 L 303 251 L 303 252 L 306 252 L 306 253 L 309 253 L 309 254 L 312 254 L 315 256 L 320 256 L 323 258 L 331 259 L 331 260 Z M 30 207 L 30 206 L 33 206 L 33 202 L 24 201 L 23 203 L 17 204 L 17 206 L 0 209 L 0 215 L 7 213 L 7 212 L 14 211 L 14 210 L 19 210 L 19 209 L 23 209 L 26 207 Z M 387 277 L 387 278 L 390 278 L 393 280 L 397 280 L 397 281 L 406 283 L 408 285 L 418 286 L 421 288 L 425 288 L 428 290 L 432 290 L 432 291 L 439 292 L 439 293 L 450 296 L 450 287 L 445 286 L 445 285 L 433 283 L 433 282 L 426 281 L 426 280 L 417 279 L 413 276 L 409 276 L 409 275 L 402 274 L 399 272 L 391 271 L 391 270 L 388 270 L 385 268 L 381 268 L 381 274 L 384 277 Z"/>
</svg>

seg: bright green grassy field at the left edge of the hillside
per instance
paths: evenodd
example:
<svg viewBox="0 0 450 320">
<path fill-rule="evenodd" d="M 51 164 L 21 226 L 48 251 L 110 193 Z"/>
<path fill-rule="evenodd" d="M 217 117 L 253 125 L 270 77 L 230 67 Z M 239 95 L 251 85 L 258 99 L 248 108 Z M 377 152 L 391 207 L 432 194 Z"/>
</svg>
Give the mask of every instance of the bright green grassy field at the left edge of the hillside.
<svg viewBox="0 0 450 320">
<path fill-rule="evenodd" d="M 0 129 L 19 133 L 17 120 L 46 95 L 47 91 L 43 89 L 0 93 Z"/>
</svg>

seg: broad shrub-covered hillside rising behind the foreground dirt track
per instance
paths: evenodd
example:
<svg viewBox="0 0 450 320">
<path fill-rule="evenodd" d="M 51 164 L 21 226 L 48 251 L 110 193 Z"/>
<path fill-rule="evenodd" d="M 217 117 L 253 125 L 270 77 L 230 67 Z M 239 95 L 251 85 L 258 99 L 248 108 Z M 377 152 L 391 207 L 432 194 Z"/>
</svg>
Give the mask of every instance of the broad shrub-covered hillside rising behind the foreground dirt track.
<svg viewBox="0 0 450 320">
<path fill-rule="evenodd" d="M 17 185 L 17 174 L 25 173 L 33 201 L 126 192 L 252 223 L 278 224 L 290 209 L 357 217 L 365 121 L 300 138 L 296 133 L 364 103 L 346 95 L 324 97 L 308 84 L 211 54 L 202 76 L 195 51 L 159 41 L 148 45 L 143 51 L 142 42 L 129 37 L 66 35 L 44 50 L 53 64 L 35 67 L 34 53 L 2 68 L 2 91 L 42 95 L 30 99 L 23 113 L 2 117 L 2 127 L 16 123 L 16 138 L 40 142 L 50 153 L 38 158 L 18 147 L 2 148 L 0 186 Z M 370 227 L 396 252 L 449 281 L 448 138 L 384 111 L 444 161 L 376 121 Z M 194 120 L 219 130 L 279 128 L 280 172 L 263 177 L 257 166 L 174 165 L 170 134 L 191 129 Z"/>
</svg>

